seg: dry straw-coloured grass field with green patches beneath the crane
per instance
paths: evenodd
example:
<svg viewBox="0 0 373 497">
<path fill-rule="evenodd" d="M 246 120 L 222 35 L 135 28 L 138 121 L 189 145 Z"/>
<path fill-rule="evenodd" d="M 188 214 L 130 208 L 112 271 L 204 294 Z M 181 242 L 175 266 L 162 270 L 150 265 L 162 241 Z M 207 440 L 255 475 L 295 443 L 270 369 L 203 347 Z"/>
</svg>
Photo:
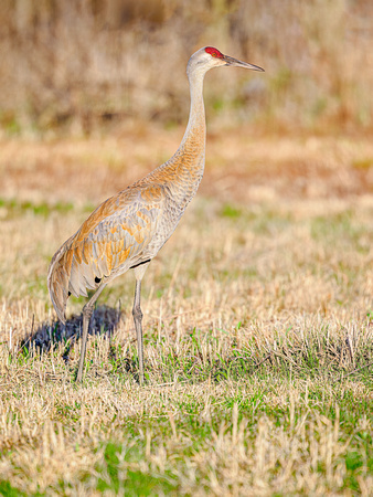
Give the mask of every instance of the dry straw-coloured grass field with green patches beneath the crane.
<svg viewBox="0 0 373 497">
<path fill-rule="evenodd" d="M 143 279 L 81 309 L 46 289 L 90 210 L 183 130 L 0 142 L 0 495 L 372 495 L 373 144 L 207 136 L 198 197 Z"/>
</svg>

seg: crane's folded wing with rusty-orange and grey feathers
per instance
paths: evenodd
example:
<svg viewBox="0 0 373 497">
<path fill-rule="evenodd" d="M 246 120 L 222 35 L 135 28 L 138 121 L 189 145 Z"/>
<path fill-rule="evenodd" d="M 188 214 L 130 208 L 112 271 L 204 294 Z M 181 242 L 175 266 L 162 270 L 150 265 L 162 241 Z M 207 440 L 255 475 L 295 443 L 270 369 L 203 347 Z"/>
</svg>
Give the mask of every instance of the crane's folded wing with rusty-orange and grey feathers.
<svg viewBox="0 0 373 497">
<path fill-rule="evenodd" d="M 100 281 L 149 261 L 164 211 L 161 186 L 127 189 L 102 203 L 52 258 L 49 290 L 62 321 L 70 294 L 87 296 Z"/>
</svg>

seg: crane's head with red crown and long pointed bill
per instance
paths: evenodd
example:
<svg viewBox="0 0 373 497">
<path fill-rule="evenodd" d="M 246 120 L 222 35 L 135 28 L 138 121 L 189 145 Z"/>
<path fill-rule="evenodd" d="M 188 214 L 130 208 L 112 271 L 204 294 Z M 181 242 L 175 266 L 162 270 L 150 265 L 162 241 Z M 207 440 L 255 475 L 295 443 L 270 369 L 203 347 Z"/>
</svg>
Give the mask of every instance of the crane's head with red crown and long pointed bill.
<svg viewBox="0 0 373 497">
<path fill-rule="evenodd" d="M 186 73 L 188 75 L 192 73 L 200 73 L 204 75 L 207 71 L 213 67 L 223 66 L 237 66 L 245 67 L 253 71 L 264 71 L 262 67 L 247 62 L 238 61 L 237 59 L 230 57 L 228 55 L 222 54 L 217 49 L 213 46 L 204 46 L 195 52 L 188 62 Z"/>
</svg>

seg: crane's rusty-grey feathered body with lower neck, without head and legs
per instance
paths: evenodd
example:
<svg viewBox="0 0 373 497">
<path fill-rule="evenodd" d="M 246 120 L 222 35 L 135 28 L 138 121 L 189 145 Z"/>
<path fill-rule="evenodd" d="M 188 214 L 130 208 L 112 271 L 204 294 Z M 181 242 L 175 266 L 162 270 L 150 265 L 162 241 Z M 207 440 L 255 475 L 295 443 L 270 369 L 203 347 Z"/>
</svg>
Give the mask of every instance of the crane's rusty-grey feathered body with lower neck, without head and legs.
<svg viewBox="0 0 373 497">
<path fill-rule="evenodd" d="M 199 128 L 168 162 L 103 202 L 56 252 L 49 287 L 62 321 L 68 292 L 87 297 L 86 289 L 98 288 L 103 279 L 154 257 L 200 184 L 204 141 Z"/>
</svg>

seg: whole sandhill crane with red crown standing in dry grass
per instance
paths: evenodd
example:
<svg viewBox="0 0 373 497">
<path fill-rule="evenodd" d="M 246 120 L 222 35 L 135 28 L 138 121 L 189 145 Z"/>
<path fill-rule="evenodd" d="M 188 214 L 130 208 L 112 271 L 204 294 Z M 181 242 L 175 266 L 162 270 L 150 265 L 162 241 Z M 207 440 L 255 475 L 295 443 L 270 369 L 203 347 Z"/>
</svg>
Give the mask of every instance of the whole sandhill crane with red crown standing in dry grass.
<svg viewBox="0 0 373 497">
<path fill-rule="evenodd" d="M 126 271 L 135 269 L 132 315 L 138 342 L 139 380 L 143 383 L 141 281 L 151 260 L 173 233 L 201 182 L 206 134 L 203 78 L 207 71 L 221 66 L 263 71 L 256 65 L 223 55 L 212 46 L 195 52 L 186 66 L 191 95 L 189 121 L 175 154 L 148 176 L 102 203 L 52 258 L 47 287 L 62 322 L 66 320 L 70 295 L 87 297 L 87 289 L 96 290 L 83 307 L 77 381 L 83 379 L 88 326 L 95 302 L 108 283 Z"/>
</svg>

